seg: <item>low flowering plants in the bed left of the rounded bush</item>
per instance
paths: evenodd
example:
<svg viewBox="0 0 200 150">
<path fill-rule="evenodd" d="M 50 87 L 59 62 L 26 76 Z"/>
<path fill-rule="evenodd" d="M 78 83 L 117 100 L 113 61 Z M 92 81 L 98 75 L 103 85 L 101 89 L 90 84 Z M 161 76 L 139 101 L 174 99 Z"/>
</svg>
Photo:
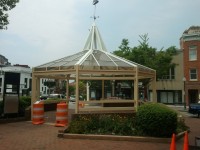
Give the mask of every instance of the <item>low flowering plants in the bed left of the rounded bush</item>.
<svg viewBox="0 0 200 150">
<path fill-rule="evenodd" d="M 71 122 L 67 133 L 135 135 L 134 114 L 80 114 Z"/>
</svg>

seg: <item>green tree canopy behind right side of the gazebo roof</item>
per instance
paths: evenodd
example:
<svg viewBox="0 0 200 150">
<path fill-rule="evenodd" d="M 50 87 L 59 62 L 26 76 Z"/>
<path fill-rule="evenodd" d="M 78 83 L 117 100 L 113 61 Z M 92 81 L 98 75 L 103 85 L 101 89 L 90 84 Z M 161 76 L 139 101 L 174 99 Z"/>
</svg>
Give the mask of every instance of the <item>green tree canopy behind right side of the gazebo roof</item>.
<svg viewBox="0 0 200 150">
<path fill-rule="evenodd" d="M 155 69 L 157 79 L 168 75 L 170 68 L 175 66 L 175 64 L 172 63 L 172 58 L 173 55 L 177 53 L 176 47 L 171 46 L 166 50 L 157 50 L 149 46 L 148 34 L 140 35 L 139 37 L 140 44 L 133 48 L 129 46 L 128 39 L 122 39 L 119 50 L 113 53 L 138 64 Z"/>
</svg>

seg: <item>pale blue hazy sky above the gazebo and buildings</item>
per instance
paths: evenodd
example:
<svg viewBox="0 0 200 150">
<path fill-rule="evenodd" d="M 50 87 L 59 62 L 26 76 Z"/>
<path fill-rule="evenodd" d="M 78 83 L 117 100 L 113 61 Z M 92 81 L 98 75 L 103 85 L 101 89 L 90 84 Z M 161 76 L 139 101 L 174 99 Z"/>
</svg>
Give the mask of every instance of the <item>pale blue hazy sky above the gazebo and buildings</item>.
<svg viewBox="0 0 200 150">
<path fill-rule="evenodd" d="M 80 52 L 93 23 L 93 0 L 20 0 L 9 11 L 7 30 L 0 30 L 0 55 L 14 64 L 38 65 Z M 200 0 L 99 0 L 96 25 L 108 52 L 122 39 L 160 50 L 180 48 L 179 38 L 190 26 L 200 26 Z"/>
</svg>

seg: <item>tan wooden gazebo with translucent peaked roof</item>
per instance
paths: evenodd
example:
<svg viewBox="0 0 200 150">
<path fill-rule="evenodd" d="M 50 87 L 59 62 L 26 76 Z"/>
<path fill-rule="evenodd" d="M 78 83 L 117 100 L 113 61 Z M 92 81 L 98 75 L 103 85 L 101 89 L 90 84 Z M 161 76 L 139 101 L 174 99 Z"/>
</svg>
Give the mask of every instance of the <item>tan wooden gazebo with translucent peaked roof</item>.
<svg viewBox="0 0 200 150">
<path fill-rule="evenodd" d="M 140 79 L 151 79 L 153 87 L 153 101 L 156 100 L 156 71 L 126 60 L 112 53 L 107 52 L 100 32 L 94 23 L 90 29 L 89 36 L 86 40 L 82 51 L 64 58 L 51 61 L 32 70 L 32 104 L 39 99 L 40 96 L 40 78 L 66 80 L 66 95 L 68 95 L 69 81 L 75 81 L 75 97 L 76 107 L 75 113 L 81 111 L 104 111 L 104 110 L 137 110 L 138 106 L 138 83 Z M 90 105 L 93 103 L 133 103 L 134 107 L 99 107 L 99 108 L 79 108 L 79 82 L 100 80 L 101 99 L 87 100 L 82 103 Z M 133 83 L 133 98 L 132 99 L 105 99 L 105 81 L 132 81 Z"/>
</svg>

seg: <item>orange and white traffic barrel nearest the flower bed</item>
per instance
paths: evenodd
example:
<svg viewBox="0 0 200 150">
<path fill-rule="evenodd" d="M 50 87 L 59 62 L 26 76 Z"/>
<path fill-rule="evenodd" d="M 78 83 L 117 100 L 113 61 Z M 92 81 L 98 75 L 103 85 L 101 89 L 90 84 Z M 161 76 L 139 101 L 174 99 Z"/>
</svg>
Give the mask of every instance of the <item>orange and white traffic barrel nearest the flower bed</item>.
<svg viewBox="0 0 200 150">
<path fill-rule="evenodd" d="M 68 104 L 59 103 L 57 104 L 56 110 L 56 127 L 64 127 L 68 125 Z"/>
</svg>

